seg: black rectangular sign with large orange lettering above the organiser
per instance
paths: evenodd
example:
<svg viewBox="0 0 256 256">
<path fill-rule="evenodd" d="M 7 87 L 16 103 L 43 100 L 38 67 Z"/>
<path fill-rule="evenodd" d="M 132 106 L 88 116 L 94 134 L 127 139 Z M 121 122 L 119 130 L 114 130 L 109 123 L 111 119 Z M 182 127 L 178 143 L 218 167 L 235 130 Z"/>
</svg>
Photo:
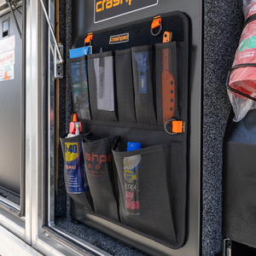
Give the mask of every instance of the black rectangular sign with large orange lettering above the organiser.
<svg viewBox="0 0 256 256">
<path fill-rule="evenodd" d="M 94 0 L 94 22 L 113 19 L 158 4 L 159 0 Z"/>
</svg>

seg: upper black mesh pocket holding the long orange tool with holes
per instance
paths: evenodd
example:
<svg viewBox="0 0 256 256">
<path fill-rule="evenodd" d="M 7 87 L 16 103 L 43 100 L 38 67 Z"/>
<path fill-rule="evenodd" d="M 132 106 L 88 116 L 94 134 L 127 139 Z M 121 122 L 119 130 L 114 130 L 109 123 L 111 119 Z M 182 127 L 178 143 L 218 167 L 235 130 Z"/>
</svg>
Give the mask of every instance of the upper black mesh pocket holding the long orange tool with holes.
<svg viewBox="0 0 256 256">
<path fill-rule="evenodd" d="M 177 42 L 155 44 L 157 123 L 180 119 L 178 106 Z"/>
</svg>

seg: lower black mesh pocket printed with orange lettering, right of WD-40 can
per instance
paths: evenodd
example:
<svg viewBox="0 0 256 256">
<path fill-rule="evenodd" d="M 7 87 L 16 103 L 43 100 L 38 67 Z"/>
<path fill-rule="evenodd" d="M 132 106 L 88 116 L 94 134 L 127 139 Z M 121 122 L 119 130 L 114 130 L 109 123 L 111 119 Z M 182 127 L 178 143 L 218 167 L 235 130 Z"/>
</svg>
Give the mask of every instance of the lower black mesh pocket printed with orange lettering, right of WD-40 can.
<svg viewBox="0 0 256 256">
<path fill-rule="evenodd" d="M 86 140 L 90 141 L 90 137 Z M 114 190 L 117 175 L 111 151 L 115 140 L 116 137 L 107 137 L 95 142 L 83 142 L 83 151 L 94 211 L 119 221 L 118 195 Z"/>
</svg>

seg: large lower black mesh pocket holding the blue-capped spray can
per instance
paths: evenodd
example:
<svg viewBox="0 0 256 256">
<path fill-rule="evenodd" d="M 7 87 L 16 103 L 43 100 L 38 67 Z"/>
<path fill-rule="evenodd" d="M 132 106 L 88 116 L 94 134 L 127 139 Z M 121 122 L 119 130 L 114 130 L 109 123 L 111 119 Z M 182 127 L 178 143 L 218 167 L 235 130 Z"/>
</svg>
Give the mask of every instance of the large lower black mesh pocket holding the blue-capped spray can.
<svg viewBox="0 0 256 256">
<path fill-rule="evenodd" d="M 171 164 L 170 154 L 167 145 L 131 152 L 119 152 L 116 145 L 113 147 L 121 223 L 175 245 L 170 173 L 176 164 Z"/>
</svg>

